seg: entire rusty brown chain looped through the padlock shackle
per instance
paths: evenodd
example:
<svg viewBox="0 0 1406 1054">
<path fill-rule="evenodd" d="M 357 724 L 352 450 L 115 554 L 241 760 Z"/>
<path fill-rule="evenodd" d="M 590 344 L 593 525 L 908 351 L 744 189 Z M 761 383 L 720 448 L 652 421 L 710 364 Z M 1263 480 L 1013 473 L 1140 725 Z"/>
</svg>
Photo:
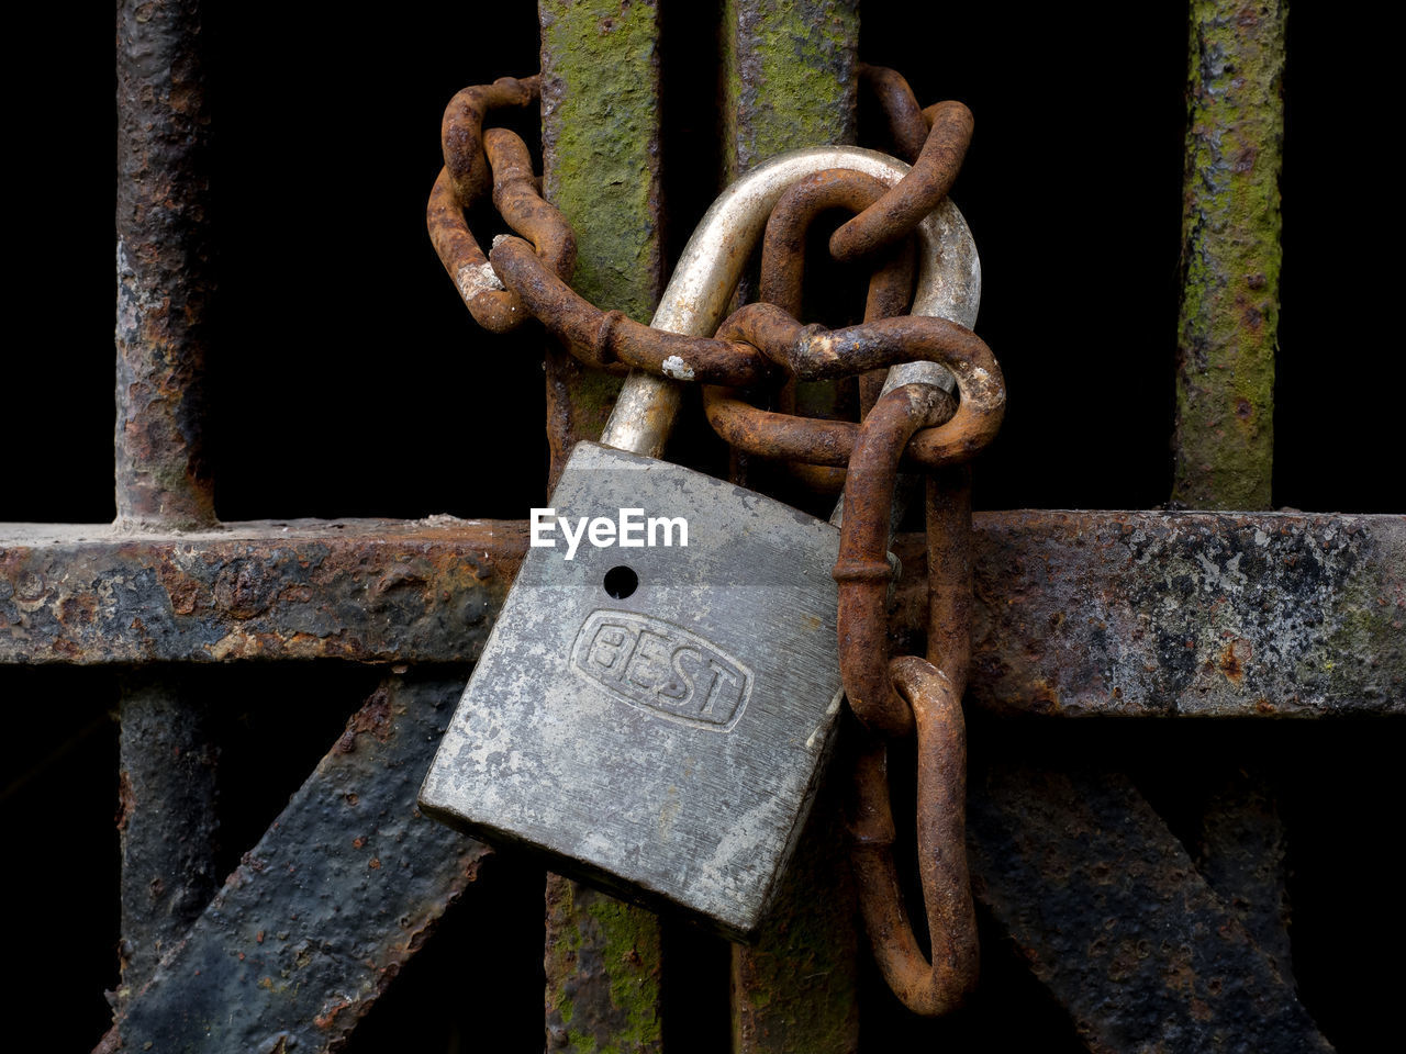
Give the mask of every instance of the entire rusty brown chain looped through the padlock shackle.
<svg viewBox="0 0 1406 1054">
<path fill-rule="evenodd" d="M 966 864 L 966 732 L 962 694 L 970 658 L 970 460 L 995 436 L 1004 412 L 1001 370 L 965 326 L 910 316 L 912 232 L 948 194 L 972 139 L 960 103 L 921 110 L 894 70 L 859 65 L 912 169 L 893 187 L 848 170 L 797 181 L 766 225 L 761 302 L 740 308 L 713 337 L 690 337 L 602 311 L 571 288 L 575 238 L 540 194 L 522 139 L 484 129 L 498 108 L 540 97 L 536 76 L 503 77 L 460 91 L 444 111 L 444 169 L 430 194 L 427 225 L 446 271 L 474 319 L 495 333 L 538 319 L 582 361 L 641 368 L 703 385 L 713 429 L 734 448 L 797 462 L 825 482 L 848 467 L 839 559 L 839 665 L 845 694 L 863 731 L 855 756 L 849 828 L 860 909 L 884 980 L 917 1013 L 945 1013 L 976 984 L 979 947 Z M 485 195 L 512 230 L 485 256 L 465 212 Z M 873 261 L 865 320 L 827 330 L 804 326 L 800 287 L 806 232 L 827 208 L 853 218 L 830 239 L 838 260 Z M 907 384 L 879 395 L 890 365 L 927 360 L 952 372 L 953 401 L 941 388 Z M 796 379 L 860 375 L 862 423 L 797 417 Z M 780 412 L 752 403 L 779 392 Z M 870 409 L 872 408 L 872 409 Z M 929 472 L 928 655 L 889 656 L 887 559 L 890 509 L 901 464 Z M 915 734 L 920 873 L 932 954 L 910 923 L 894 864 L 889 742 Z"/>
</svg>

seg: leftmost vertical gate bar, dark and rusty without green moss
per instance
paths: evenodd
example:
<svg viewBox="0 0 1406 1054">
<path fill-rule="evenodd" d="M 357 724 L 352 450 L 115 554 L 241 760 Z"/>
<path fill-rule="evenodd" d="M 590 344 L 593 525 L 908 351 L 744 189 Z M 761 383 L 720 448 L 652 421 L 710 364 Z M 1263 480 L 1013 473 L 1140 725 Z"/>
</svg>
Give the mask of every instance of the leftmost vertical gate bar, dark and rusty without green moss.
<svg viewBox="0 0 1406 1054">
<path fill-rule="evenodd" d="M 198 0 L 117 8 L 117 519 L 205 527 L 201 372 L 211 292 Z M 143 985 L 215 891 L 215 756 L 160 675 L 120 707 L 122 981 Z"/>
</svg>

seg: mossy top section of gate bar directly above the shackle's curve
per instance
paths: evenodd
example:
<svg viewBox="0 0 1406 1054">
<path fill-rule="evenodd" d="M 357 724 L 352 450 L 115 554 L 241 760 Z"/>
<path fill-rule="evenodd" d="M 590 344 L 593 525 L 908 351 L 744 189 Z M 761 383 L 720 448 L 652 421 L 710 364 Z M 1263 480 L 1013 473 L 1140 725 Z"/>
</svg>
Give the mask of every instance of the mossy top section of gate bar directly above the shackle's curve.
<svg viewBox="0 0 1406 1054">
<path fill-rule="evenodd" d="M 724 0 L 727 177 L 785 150 L 855 141 L 858 0 Z"/>
</svg>

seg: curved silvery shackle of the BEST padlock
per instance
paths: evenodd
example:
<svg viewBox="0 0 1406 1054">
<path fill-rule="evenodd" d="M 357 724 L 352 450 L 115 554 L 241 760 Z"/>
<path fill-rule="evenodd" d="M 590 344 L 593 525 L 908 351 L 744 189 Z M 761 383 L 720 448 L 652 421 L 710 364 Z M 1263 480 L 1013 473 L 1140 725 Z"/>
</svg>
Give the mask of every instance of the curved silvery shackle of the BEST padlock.
<svg viewBox="0 0 1406 1054">
<path fill-rule="evenodd" d="M 908 171 L 898 159 L 858 146 L 792 150 L 759 164 L 724 190 L 704 214 L 650 325 L 688 336 L 713 334 L 776 201 L 797 180 L 825 169 L 853 169 L 886 186 Z M 948 318 L 970 327 L 980 302 L 981 264 L 966 221 L 955 205 L 943 201 L 918 225 L 917 233 L 918 295 L 912 313 Z M 633 454 L 662 455 L 681 399 L 678 381 L 633 370 L 600 441 Z"/>
</svg>

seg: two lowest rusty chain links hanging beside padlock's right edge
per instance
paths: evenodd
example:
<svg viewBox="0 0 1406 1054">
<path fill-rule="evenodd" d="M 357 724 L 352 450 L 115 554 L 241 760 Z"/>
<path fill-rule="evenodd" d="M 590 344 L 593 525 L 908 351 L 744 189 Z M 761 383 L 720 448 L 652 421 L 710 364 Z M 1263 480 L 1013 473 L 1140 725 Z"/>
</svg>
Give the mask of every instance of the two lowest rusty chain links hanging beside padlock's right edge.
<svg viewBox="0 0 1406 1054">
<path fill-rule="evenodd" d="M 994 365 L 994 363 L 993 363 Z M 879 399 L 860 426 L 845 488 L 844 526 L 834 576 L 839 582 L 839 669 L 849 708 L 865 727 L 855 767 L 855 883 L 875 961 L 898 1001 L 938 1016 L 962 1005 L 976 987 L 979 942 L 967 876 L 966 690 L 969 637 L 942 620 L 970 618 L 959 593 L 972 592 L 970 562 L 960 559 L 969 502 L 928 502 L 928 547 L 946 594 L 928 606 L 927 652 L 950 669 L 905 655 L 889 659 L 887 559 L 898 460 L 912 434 L 935 423 L 939 388 L 908 384 Z M 1000 403 L 997 403 L 997 409 Z M 960 412 L 960 408 L 959 408 Z M 942 427 L 955 427 L 953 423 Z M 955 558 L 946 548 L 956 547 Z M 929 596 L 932 586 L 929 586 Z M 889 739 L 917 732 L 917 840 L 931 957 L 914 936 L 894 863 L 889 800 Z"/>
</svg>

